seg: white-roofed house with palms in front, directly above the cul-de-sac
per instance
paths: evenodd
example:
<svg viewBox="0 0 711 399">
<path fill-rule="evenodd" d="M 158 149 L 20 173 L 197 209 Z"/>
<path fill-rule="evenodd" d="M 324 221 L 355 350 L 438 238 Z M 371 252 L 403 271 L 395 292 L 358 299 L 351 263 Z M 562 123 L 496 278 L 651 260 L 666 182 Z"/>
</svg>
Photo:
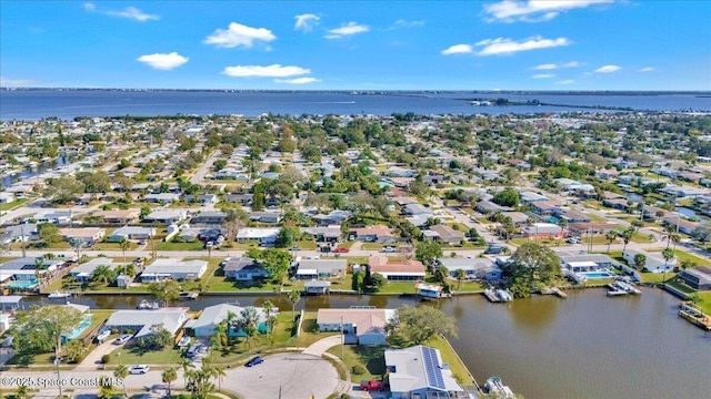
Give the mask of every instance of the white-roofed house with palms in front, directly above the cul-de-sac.
<svg viewBox="0 0 711 399">
<path fill-rule="evenodd" d="M 242 311 L 247 308 L 250 307 L 241 307 L 232 304 L 208 306 L 202 309 L 200 317 L 188 321 L 186 324 L 186 328 L 192 329 L 196 337 L 212 337 L 214 335 L 214 328 L 222 323 L 222 320 L 228 320 L 230 317 L 233 317 L 234 323 L 229 326 L 227 335 L 229 337 L 246 337 L 247 335 L 244 331 L 236 328 L 236 326 L 239 325 L 239 320 L 242 318 Z M 259 332 L 269 332 L 269 325 L 267 323 L 267 314 L 264 313 L 264 309 L 261 307 L 251 308 L 254 309 L 254 313 L 259 318 L 257 330 Z M 277 308 L 270 310 L 271 316 L 276 316 L 277 313 Z"/>
</svg>

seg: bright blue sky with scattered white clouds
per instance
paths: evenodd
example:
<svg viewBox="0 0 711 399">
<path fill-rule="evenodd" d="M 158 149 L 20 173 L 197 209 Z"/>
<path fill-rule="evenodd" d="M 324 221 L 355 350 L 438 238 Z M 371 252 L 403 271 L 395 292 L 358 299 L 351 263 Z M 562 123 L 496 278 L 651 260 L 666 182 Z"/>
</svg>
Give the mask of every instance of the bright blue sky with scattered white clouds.
<svg viewBox="0 0 711 399">
<path fill-rule="evenodd" d="M 0 86 L 711 90 L 711 2 L 0 1 Z"/>
</svg>

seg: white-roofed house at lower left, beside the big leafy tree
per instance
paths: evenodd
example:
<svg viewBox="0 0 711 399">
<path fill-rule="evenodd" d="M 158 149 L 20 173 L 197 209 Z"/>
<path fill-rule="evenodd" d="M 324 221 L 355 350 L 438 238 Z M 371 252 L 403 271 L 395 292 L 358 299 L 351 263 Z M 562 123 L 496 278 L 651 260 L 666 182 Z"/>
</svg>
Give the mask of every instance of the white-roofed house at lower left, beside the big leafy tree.
<svg viewBox="0 0 711 399">
<path fill-rule="evenodd" d="M 138 331 L 134 337 L 147 337 L 160 331 L 176 335 L 188 319 L 188 308 L 159 308 L 150 310 L 119 309 L 109 316 L 104 327 L 121 332 Z"/>
</svg>

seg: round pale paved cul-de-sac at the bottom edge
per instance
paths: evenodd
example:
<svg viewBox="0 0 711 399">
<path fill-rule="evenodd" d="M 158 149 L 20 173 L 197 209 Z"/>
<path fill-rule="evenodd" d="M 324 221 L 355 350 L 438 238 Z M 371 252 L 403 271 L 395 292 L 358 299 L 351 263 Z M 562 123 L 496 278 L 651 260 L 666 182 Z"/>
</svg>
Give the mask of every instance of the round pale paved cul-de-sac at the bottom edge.
<svg viewBox="0 0 711 399">
<path fill-rule="evenodd" d="M 338 372 L 327 360 L 306 354 L 279 354 L 254 367 L 229 369 L 222 389 L 244 399 L 328 398 L 338 383 Z"/>
</svg>

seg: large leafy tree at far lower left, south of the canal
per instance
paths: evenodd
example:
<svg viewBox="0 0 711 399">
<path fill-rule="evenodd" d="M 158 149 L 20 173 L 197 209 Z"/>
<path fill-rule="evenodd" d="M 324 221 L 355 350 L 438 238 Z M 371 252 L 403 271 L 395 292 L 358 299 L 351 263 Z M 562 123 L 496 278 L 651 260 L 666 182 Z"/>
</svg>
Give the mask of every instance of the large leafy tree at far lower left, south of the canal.
<svg viewBox="0 0 711 399">
<path fill-rule="evenodd" d="M 62 336 L 71 334 L 84 316 L 77 309 L 49 305 L 16 314 L 12 344 L 20 352 L 48 352 L 54 349 L 59 357 Z"/>
</svg>

